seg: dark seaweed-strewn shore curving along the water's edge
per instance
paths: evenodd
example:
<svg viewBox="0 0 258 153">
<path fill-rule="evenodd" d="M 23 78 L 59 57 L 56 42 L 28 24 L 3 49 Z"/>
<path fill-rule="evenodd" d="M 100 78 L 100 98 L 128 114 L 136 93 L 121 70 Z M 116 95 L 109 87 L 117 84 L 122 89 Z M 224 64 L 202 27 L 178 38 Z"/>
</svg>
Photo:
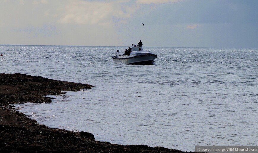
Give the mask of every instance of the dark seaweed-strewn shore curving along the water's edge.
<svg viewBox="0 0 258 153">
<path fill-rule="evenodd" d="M 64 94 L 94 86 L 31 76 L 0 74 L 0 152 L 182 152 L 146 145 L 118 145 L 95 141 L 87 132 L 49 128 L 16 111 L 13 104 L 51 102 L 46 95 Z"/>
</svg>

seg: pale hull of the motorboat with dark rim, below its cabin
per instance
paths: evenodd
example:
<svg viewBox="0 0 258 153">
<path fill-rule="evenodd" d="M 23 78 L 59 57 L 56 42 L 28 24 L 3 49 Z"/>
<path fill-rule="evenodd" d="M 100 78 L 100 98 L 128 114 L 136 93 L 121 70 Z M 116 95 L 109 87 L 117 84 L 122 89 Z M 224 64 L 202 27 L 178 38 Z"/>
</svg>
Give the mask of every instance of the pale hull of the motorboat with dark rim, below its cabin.
<svg viewBox="0 0 258 153">
<path fill-rule="evenodd" d="M 157 55 L 155 54 L 138 55 L 138 56 L 120 55 L 120 56 L 113 57 L 113 62 L 123 63 L 123 64 L 136 64 L 136 65 L 153 65 L 155 58 L 157 58 Z"/>
</svg>

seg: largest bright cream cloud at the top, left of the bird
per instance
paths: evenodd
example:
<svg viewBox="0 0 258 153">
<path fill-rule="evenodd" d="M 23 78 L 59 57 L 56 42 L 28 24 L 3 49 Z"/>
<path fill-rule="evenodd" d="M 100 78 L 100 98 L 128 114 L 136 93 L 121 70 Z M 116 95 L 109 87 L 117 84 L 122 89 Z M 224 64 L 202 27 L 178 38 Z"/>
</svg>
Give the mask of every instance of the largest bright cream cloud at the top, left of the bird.
<svg viewBox="0 0 258 153">
<path fill-rule="evenodd" d="M 73 0 L 63 8 L 64 13 L 59 23 L 110 24 L 112 18 L 128 18 L 132 12 L 123 10 L 120 1 L 90 2 Z"/>
</svg>

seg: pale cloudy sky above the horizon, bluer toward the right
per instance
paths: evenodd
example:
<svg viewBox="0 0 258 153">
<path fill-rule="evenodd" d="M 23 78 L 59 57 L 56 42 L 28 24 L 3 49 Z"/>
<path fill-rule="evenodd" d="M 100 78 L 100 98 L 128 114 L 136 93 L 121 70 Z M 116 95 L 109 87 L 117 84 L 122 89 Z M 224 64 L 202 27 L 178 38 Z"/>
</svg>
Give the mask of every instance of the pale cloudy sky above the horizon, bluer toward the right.
<svg viewBox="0 0 258 153">
<path fill-rule="evenodd" d="M 258 48 L 257 8 L 258 0 L 0 0 L 0 44 Z"/>
</svg>

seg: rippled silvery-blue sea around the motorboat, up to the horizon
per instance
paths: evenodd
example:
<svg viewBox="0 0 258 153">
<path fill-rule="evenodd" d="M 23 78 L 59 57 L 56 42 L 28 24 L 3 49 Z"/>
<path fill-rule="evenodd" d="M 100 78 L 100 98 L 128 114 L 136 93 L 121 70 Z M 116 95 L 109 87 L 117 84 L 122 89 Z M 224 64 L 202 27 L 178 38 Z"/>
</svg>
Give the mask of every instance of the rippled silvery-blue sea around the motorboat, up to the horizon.
<svg viewBox="0 0 258 153">
<path fill-rule="evenodd" d="M 0 72 L 95 86 L 15 105 L 51 128 L 182 151 L 258 145 L 258 49 L 143 47 L 154 65 L 114 63 L 117 49 L 127 48 L 0 45 Z"/>
</svg>

